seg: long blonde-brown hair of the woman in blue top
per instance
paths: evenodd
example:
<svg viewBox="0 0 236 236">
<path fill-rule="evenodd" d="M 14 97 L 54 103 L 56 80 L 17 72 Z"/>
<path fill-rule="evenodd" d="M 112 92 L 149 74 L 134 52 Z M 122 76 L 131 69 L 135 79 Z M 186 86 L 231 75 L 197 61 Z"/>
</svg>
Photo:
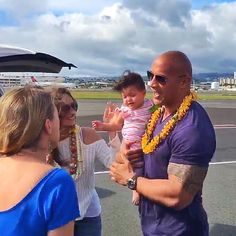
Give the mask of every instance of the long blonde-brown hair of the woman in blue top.
<svg viewBox="0 0 236 236">
<path fill-rule="evenodd" d="M 40 87 L 13 89 L 0 98 L 0 154 L 13 155 L 37 145 L 54 101 Z"/>
</svg>

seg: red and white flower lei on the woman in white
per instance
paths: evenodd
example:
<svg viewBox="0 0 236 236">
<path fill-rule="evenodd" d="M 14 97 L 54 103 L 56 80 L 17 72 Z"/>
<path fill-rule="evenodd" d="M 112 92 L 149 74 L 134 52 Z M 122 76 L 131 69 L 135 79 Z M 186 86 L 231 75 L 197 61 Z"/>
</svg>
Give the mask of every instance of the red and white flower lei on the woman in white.
<svg viewBox="0 0 236 236">
<path fill-rule="evenodd" d="M 71 129 L 70 135 L 69 135 L 69 147 L 70 147 L 70 153 L 71 153 L 69 173 L 74 179 L 77 179 L 84 170 L 79 131 L 80 131 L 80 127 L 74 126 Z"/>
</svg>

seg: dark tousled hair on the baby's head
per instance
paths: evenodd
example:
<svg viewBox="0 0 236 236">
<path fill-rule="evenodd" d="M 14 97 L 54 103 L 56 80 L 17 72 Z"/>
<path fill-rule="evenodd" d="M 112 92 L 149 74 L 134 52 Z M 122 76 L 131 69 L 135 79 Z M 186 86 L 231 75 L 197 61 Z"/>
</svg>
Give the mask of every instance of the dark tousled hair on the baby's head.
<svg viewBox="0 0 236 236">
<path fill-rule="evenodd" d="M 146 90 L 142 76 L 129 70 L 124 71 L 120 80 L 113 87 L 113 90 L 121 92 L 122 89 L 125 89 L 131 85 L 135 86 L 138 90 Z"/>
</svg>

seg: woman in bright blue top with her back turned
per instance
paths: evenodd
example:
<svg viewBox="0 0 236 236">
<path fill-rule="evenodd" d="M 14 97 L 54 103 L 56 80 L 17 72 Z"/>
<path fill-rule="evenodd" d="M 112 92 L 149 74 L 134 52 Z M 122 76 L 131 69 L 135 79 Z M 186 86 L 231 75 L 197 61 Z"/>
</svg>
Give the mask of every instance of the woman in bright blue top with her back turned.
<svg viewBox="0 0 236 236">
<path fill-rule="evenodd" d="M 72 236 L 79 216 L 72 178 L 47 164 L 59 140 L 59 118 L 41 88 L 0 99 L 0 234 Z"/>
</svg>

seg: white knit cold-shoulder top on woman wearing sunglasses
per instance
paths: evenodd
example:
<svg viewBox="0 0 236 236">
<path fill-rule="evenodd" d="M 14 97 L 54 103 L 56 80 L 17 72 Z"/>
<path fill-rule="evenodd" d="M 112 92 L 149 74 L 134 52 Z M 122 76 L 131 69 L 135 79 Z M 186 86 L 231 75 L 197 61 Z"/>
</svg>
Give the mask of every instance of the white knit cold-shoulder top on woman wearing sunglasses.
<svg viewBox="0 0 236 236">
<path fill-rule="evenodd" d="M 78 220 L 81 220 L 84 217 L 96 217 L 101 214 L 101 204 L 95 190 L 95 160 L 99 160 L 106 167 L 109 167 L 120 148 L 120 139 L 116 135 L 109 142 L 109 146 L 104 139 L 86 145 L 83 143 L 82 129 L 80 129 L 78 136 L 81 140 L 84 166 L 82 174 L 75 180 L 80 209 L 80 218 Z M 60 159 L 67 160 L 70 158 L 69 138 L 60 141 L 58 148 Z"/>
</svg>

